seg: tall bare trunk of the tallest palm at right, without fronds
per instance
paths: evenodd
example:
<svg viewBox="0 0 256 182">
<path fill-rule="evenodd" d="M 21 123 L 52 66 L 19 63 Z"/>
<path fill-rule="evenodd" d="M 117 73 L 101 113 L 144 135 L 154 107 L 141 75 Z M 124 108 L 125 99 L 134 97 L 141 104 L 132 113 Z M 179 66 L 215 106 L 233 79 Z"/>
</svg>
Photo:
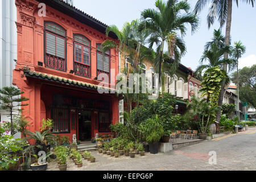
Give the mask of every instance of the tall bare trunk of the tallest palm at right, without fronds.
<svg viewBox="0 0 256 182">
<path fill-rule="evenodd" d="M 226 16 L 226 35 L 225 35 L 225 46 L 229 46 L 230 43 L 230 29 L 231 29 L 231 20 L 232 20 L 232 0 L 228 0 L 228 11 Z M 228 53 L 224 53 L 224 59 L 228 59 L 229 55 Z M 224 64 L 222 69 L 224 71 L 227 71 L 227 64 Z M 222 81 L 221 84 L 221 90 L 220 90 L 220 96 L 218 97 L 218 106 L 222 106 L 223 96 L 224 96 L 224 88 L 225 88 L 225 80 Z M 217 122 L 217 131 L 219 127 L 220 122 L 220 114 L 221 109 L 218 108 L 217 115 L 216 115 L 216 122 Z"/>
</svg>

